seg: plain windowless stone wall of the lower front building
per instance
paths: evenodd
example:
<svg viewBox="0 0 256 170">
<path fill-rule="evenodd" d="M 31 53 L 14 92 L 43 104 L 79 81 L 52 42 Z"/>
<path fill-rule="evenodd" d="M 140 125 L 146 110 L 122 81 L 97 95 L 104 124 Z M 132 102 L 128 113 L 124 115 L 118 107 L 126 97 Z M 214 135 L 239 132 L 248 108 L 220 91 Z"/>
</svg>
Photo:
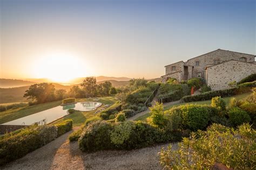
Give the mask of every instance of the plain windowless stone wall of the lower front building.
<svg viewBox="0 0 256 170">
<path fill-rule="evenodd" d="M 247 63 L 241 61 L 227 61 L 207 67 L 206 81 L 207 86 L 212 90 L 227 89 L 228 83 L 232 81 L 239 82 L 246 76 L 256 73 L 256 65 L 254 63 Z"/>
</svg>

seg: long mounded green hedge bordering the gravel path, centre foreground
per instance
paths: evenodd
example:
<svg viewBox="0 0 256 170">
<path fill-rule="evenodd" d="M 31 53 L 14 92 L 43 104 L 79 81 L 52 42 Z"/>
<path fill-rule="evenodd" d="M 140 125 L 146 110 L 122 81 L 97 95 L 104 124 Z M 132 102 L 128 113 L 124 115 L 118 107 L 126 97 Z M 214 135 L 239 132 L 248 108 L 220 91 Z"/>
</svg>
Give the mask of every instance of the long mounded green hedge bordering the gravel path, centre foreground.
<svg viewBox="0 0 256 170">
<path fill-rule="evenodd" d="M 89 124 L 83 130 L 78 144 L 82 151 L 92 152 L 113 149 L 131 150 L 180 139 L 181 134 L 179 132 L 165 133 L 140 121 L 122 123 L 98 121 Z"/>
</svg>

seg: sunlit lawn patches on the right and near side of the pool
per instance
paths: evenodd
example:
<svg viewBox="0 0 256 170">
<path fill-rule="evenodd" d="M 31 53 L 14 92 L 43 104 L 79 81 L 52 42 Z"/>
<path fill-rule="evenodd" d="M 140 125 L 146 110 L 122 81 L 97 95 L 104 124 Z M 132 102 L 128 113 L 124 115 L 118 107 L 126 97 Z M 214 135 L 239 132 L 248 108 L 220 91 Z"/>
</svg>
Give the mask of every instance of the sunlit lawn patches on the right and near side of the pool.
<svg viewBox="0 0 256 170">
<path fill-rule="evenodd" d="M 83 101 L 92 101 L 87 98 L 78 99 L 77 102 L 83 102 Z M 103 104 L 113 104 L 117 100 L 114 100 L 113 97 L 100 97 L 97 102 L 103 103 Z M 99 108 L 103 107 L 104 105 L 100 106 Z M 99 109 L 98 108 L 98 109 Z M 73 114 L 67 115 L 61 119 L 59 119 L 56 122 L 53 122 L 52 124 L 60 123 L 62 121 L 65 121 L 66 119 L 72 119 L 73 120 L 73 126 L 79 126 L 82 125 L 87 118 L 91 118 L 93 116 L 96 116 L 95 110 L 94 111 L 76 111 Z"/>
</svg>

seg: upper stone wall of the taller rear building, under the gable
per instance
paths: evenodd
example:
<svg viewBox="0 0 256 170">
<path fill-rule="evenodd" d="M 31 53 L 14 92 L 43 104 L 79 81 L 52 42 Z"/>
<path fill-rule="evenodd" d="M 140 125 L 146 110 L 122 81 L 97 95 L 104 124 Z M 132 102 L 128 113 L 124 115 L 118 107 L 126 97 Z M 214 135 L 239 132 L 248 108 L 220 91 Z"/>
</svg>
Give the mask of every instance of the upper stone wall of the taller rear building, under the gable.
<svg viewBox="0 0 256 170">
<path fill-rule="evenodd" d="M 197 77 L 198 73 L 201 73 L 201 77 L 205 79 L 205 75 L 206 75 L 205 68 L 207 65 L 215 65 L 216 62 L 221 63 L 229 60 L 239 61 L 242 58 L 245 58 L 247 60 L 246 62 L 254 61 L 254 55 L 251 55 L 251 54 L 244 54 L 244 53 L 226 51 L 223 49 L 217 49 L 216 51 L 203 54 L 203 55 L 197 56 L 196 58 L 187 60 L 186 64 L 194 66 L 192 77 Z M 197 61 L 199 61 L 199 66 L 196 66 Z"/>
</svg>

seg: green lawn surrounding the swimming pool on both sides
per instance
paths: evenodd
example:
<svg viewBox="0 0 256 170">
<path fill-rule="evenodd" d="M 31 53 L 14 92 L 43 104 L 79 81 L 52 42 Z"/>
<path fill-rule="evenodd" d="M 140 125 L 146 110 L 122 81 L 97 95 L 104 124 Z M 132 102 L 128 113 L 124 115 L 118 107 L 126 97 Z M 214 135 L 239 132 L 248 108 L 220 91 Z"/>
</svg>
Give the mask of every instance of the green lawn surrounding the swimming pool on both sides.
<svg viewBox="0 0 256 170">
<path fill-rule="evenodd" d="M 91 99 L 88 98 L 78 98 L 77 102 L 84 102 L 84 101 L 92 101 Z M 99 101 L 100 103 L 103 104 L 112 104 L 116 102 L 116 100 L 113 99 L 113 97 L 100 97 Z M 47 109 L 51 109 L 54 107 L 57 107 L 60 105 L 62 101 L 55 101 L 55 102 L 49 102 L 49 103 L 43 103 L 43 104 L 37 104 L 37 105 L 32 105 L 24 108 L 18 108 L 18 109 L 12 109 L 12 110 L 7 110 L 0 112 L 0 124 L 13 121 L 18 118 L 22 118 L 25 116 L 29 116 L 32 114 L 36 114 L 37 112 L 44 111 Z M 72 115 L 68 115 L 62 119 L 59 120 L 63 121 L 64 119 L 73 119 L 74 125 L 78 125 L 80 123 L 83 123 L 85 121 L 85 117 L 91 117 L 94 115 L 95 111 L 89 111 L 89 112 L 76 112 Z"/>
</svg>

